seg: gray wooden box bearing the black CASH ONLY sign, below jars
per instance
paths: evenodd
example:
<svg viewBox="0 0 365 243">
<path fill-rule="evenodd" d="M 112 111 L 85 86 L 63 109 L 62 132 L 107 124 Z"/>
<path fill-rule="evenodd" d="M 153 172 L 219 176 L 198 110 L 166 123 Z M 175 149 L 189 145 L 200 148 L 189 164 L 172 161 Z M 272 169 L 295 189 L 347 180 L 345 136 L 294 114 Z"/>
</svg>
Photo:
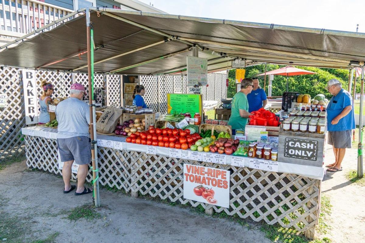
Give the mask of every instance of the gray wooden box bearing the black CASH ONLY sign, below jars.
<svg viewBox="0 0 365 243">
<path fill-rule="evenodd" d="M 278 161 L 322 167 L 325 134 L 279 131 Z"/>
</svg>

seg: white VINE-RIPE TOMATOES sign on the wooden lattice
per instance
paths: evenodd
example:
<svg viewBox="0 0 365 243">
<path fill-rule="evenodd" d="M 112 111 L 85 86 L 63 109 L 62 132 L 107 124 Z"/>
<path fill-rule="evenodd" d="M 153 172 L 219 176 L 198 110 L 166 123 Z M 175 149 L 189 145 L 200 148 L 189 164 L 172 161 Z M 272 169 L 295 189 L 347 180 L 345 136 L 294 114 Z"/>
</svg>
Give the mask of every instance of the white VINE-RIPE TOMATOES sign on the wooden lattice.
<svg viewBox="0 0 365 243">
<path fill-rule="evenodd" d="M 229 207 L 230 171 L 184 164 L 184 198 Z"/>
</svg>

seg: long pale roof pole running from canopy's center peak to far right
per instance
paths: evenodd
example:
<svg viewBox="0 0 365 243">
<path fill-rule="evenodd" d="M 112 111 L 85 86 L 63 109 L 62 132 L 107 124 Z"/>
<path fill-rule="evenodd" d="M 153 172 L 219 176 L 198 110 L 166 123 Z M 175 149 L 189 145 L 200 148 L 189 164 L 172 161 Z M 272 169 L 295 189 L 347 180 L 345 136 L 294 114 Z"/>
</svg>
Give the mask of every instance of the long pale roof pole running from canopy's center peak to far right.
<svg viewBox="0 0 365 243">
<path fill-rule="evenodd" d="M 337 59 L 337 58 L 319 57 L 319 56 L 314 56 L 314 55 L 291 53 L 291 52 L 288 52 L 288 51 L 268 50 L 268 49 L 263 49 L 263 48 L 228 44 L 228 43 L 224 43 L 224 42 L 216 42 L 216 41 L 210 41 L 210 40 L 199 40 L 199 39 L 191 39 L 191 38 L 184 38 L 184 37 L 177 37 L 177 39 L 186 40 L 186 41 L 189 41 L 189 42 L 199 42 L 199 43 L 205 43 L 205 44 L 211 44 L 211 45 L 220 45 L 220 46 L 242 48 L 242 49 L 253 50 L 253 51 L 264 51 L 264 52 L 268 52 L 268 53 L 281 54 L 281 55 L 291 55 L 291 56 L 296 55 L 297 57 L 303 57 L 303 58 L 306 58 L 306 59 L 316 58 L 316 59 L 323 60 L 323 61 L 346 63 L 347 65 L 349 65 L 349 63 L 350 63 L 347 60 L 342 60 L 342 59 Z"/>
</svg>

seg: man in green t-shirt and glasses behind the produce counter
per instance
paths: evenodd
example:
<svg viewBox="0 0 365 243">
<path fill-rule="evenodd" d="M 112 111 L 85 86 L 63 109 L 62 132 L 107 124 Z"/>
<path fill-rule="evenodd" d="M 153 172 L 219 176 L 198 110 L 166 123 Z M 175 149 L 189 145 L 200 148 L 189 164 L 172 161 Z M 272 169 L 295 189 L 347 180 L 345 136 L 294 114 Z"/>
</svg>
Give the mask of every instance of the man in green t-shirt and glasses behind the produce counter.
<svg viewBox="0 0 365 243">
<path fill-rule="evenodd" d="M 247 118 L 252 114 L 249 112 L 249 102 L 247 94 L 251 93 L 253 89 L 253 80 L 245 78 L 241 82 L 241 90 L 237 92 L 232 99 L 231 117 L 228 125 L 232 129 L 245 129 Z"/>
</svg>

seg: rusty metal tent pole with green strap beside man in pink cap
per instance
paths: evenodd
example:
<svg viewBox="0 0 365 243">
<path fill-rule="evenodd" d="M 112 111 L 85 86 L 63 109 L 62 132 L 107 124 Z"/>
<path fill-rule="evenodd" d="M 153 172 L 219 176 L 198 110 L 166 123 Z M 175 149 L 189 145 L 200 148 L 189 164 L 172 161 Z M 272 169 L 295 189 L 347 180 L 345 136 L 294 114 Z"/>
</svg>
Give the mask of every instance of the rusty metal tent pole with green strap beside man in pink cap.
<svg viewBox="0 0 365 243">
<path fill-rule="evenodd" d="M 93 80 L 92 80 L 92 69 L 93 69 L 93 63 L 92 63 L 92 48 L 91 45 L 91 21 L 90 21 L 90 11 L 89 8 L 86 8 L 86 31 L 87 31 L 87 48 L 88 48 L 88 85 L 89 85 L 89 105 L 90 105 L 90 137 L 91 137 L 91 160 L 92 160 L 92 177 L 93 177 L 93 194 L 94 194 L 94 200 L 95 200 L 95 207 L 100 206 L 99 201 L 99 171 L 97 169 L 97 144 L 96 144 L 96 119 L 94 120 L 94 117 L 96 117 L 95 114 L 95 104 L 93 101 Z"/>
</svg>

